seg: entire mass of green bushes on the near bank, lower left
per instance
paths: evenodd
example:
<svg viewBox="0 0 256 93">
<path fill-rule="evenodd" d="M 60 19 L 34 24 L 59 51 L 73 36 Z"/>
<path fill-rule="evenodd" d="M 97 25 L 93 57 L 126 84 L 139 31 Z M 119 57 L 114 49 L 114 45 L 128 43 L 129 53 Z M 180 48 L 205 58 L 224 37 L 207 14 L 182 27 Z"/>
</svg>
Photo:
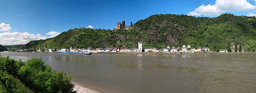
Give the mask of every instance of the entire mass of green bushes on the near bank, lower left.
<svg viewBox="0 0 256 93">
<path fill-rule="evenodd" d="M 31 90 L 33 90 L 34 93 L 75 93 L 75 91 L 73 91 L 74 84 L 71 83 L 71 75 L 67 76 L 63 72 L 52 71 L 49 65 L 44 65 L 42 59 L 32 58 L 26 63 L 22 63 L 20 60 L 15 61 L 9 57 L 0 57 L 0 67 L 0 93 L 1 91 L 20 93 L 19 91 L 12 90 L 16 88 L 25 90 L 19 88 L 23 86 L 27 90 L 30 90 L 29 92 L 24 91 L 21 93 L 30 93 L 32 92 Z M 12 82 L 8 81 L 8 79 L 11 79 Z M 8 83 L 6 83 L 6 81 L 8 81 Z"/>
</svg>

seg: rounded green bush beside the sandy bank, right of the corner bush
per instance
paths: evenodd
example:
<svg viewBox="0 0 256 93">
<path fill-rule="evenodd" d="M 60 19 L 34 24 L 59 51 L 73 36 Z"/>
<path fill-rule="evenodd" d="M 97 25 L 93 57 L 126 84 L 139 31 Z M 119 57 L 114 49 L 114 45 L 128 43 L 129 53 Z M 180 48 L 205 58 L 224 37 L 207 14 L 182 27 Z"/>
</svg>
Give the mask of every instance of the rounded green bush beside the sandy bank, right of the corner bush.
<svg viewBox="0 0 256 93">
<path fill-rule="evenodd" d="M 63 72 L 53 72 L 50 66 L 44 65 L 44 61 L 38 58 L 28 60 L 21 66 L 19 76 L 36 93 L 68 93 L 74 87 L 71 76 Z"/>
</svg>

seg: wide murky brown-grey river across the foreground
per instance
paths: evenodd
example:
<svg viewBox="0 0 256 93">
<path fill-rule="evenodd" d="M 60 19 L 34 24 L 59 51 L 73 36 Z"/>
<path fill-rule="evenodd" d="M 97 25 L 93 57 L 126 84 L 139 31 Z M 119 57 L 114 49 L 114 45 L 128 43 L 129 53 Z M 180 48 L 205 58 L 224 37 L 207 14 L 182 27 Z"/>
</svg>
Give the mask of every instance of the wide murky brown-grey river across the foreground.
<svg viewBox="0 0 256 93">
<path fill-rule="evenodd" d="M 105 93 L 256 93 L 256 53 L 0 53 L 41 57 L 73 81 Z"/>
</svg>

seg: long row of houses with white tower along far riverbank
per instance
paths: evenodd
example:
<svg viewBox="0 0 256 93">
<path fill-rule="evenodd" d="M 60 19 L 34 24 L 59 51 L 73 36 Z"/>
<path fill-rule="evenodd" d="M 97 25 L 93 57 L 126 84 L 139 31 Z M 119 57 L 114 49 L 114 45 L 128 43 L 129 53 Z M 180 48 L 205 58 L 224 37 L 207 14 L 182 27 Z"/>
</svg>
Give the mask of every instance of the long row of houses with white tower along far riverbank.
<svg viewBox="0 0 256 93">
<path fill-rule="evenodd" d="M 90 51 L 92 53 L 115 53 L 115 52 L 120 52 L 120 53 L 130 53 L 130 52 L 210 52 L 209 47 L 197 47 L 197 48 L 191 48 L 190 45 L 185 46 L 183 45 L 182 47 L 178 46 L 167 46 L 164 49 L 157 49 L 157 48 L 144 48 L 142 49 L 142 42 L 138 42 L 138 48 L 96 48 L 96 49 L 91 49 L 91 48 L 72 48 L 70 49 L 52 49 L 52 48 L 45 48 L 44 52 L 85 52 L 85 51 Z M 40 49 L 38 50 L 40 52 Z"/>
</svg>

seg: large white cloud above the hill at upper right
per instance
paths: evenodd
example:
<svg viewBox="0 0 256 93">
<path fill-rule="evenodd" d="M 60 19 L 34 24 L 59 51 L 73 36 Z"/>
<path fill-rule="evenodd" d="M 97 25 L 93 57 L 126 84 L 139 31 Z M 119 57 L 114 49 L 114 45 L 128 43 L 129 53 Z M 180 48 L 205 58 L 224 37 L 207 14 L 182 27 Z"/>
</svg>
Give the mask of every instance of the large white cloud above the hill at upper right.
<svg viewBox="0 0 256 93">
<path fill-rule="evenodd" d="M 251 5 L 247 0 L 216 0 L 214 5 L 201 5 L 195 8 L 195 11 L 189 12 L 188 15 L 220 15 L 226 12 L 246 12 L 256 9 L 256 6 Z"/>
</svg>

